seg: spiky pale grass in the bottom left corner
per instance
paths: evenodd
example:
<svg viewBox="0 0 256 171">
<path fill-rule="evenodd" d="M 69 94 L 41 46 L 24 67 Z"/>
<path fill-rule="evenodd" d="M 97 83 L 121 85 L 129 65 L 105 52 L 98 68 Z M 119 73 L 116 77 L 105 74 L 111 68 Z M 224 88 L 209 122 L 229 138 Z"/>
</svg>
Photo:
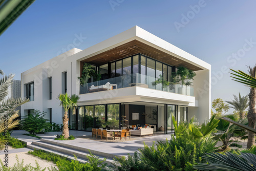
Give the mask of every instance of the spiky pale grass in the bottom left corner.
<svg viewBox="0 0 256 171">
<path fill-rule="evenodd" d="M 1 163 L 1 166 L 0 166 L 0 170 L 3 170 L 3 171 L 19 171 L 19 170 L 26 170 L 26 171 L 44 171 L 46 170 L 46 168 L 44 169 L 41 169 L 41 167 L 39 166 L 39 164 L 37 163 L 37 161 L 35 161 L 36 163 L 36 167 L 33 167 L 31 166 L 30 164 L 27 164 L 24 166 L 24 160 L 22 160 L 22 162 L 19 162 L 18 160 L 18 156 L 16 155 L 16 161 L 17 163 L 14 163 L 13 166 L 11 167 L 7 167 L 3 161 L 0 159 L 0 163 Z"/>
</svg>

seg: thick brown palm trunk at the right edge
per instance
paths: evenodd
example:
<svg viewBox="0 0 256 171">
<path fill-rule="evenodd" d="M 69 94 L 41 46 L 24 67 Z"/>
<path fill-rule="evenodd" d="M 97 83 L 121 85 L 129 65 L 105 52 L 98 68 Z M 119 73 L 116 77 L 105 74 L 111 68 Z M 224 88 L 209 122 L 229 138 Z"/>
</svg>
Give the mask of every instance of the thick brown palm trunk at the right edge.
<svg viewBox="0 0 256 171">
<path fill-rule="evenodd" d="M 249 111 L 247 114 L 248 118 L 248 126 L 255 129 L 255 121 L 256 121 L 256 110 L 255 110 L 255 98 L 256 93 L 254 88 L 250 88 L 249 93 Z M 254 140 L 254 133 L 250 132 L 248 133 L 248 142 L 247 142 L 247 148 L 250 148 L 252 145 L 255 144 Z"/>
</svg>

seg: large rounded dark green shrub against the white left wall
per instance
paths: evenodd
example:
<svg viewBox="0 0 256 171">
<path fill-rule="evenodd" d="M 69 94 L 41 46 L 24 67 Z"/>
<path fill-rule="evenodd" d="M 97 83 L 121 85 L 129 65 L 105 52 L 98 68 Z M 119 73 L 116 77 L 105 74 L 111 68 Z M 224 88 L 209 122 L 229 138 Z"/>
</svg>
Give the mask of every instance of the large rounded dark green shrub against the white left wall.
<svg viewBox="0 0 256 171">
<path fill-rule="evenodd" d="M 29 134 L 36 135 L 41 133 L 44 129 L 50 129 L 51 123 L 45 118 L 45 113 L 35 110 L 32 114 L 25 115 L 21 121 L 22 129 L 29 132 Z"/>
</svg>

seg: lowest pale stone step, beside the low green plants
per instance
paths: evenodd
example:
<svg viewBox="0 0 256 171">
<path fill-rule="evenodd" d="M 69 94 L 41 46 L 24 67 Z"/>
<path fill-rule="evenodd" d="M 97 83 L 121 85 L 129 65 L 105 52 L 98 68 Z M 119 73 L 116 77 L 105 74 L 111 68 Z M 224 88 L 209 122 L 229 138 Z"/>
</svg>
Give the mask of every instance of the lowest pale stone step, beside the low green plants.
<svg viewBox="0 0 256 171">
<path fill-rule="evenodd" d="M 49 144 L 47 142 L 37 141 L 37 142 L 32 142 L 31 145 L 46 148 L 46 149 L 49 149 L 50 151 L 58 152 L 58 153 L 63 154 L 63 155 L 68 155 L 68 156 L 75 155 L 76 157 L 81 158 L 83 160 L 88 160 L 87 155 L 90 154 L 90 153 L 87 153 L 87 152 L 84 152 L 84 151 L 81 151 L 81 150 L 76 150 L 76 149 L 63 147 L 63 146 L 58 146 L 56 144 Z M 30 148 L 30 145 L 27 145 L 27 147 Z M 100 160 L 104 159 L 104 157 L 102 157 L 102 156 L 99 156 L 99 155 L 96 155 L 96 156 L 98 156 Z M 108 163 L 108 164 L 111 164 L 111 162 L 113 162 L 113 159 L 112 158 L 107 158 L 105 162 Z"/>
</svg>

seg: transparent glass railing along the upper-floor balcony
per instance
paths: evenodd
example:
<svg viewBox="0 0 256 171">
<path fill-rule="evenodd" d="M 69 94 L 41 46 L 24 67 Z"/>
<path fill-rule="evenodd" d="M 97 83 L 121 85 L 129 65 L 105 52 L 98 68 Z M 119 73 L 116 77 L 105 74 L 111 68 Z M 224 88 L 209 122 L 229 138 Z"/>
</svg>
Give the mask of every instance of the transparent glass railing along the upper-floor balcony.
<svg viewBox="0 0 256 171">
<path fill-rule="evenodd" d="M 169 84 L 169 86 L 164 87 L 162 83 L 154 85 L 155 81 L 155 77 L 150 77 L 138 73 L 123 75 L 84 84 L 83 86 L 80 86 L 80 94 L 140 86 L 144 88 L 194 96 L 194 89 L 190 86 L 186 87 L 181 86 L 180 84 Z"/>
</svg>

